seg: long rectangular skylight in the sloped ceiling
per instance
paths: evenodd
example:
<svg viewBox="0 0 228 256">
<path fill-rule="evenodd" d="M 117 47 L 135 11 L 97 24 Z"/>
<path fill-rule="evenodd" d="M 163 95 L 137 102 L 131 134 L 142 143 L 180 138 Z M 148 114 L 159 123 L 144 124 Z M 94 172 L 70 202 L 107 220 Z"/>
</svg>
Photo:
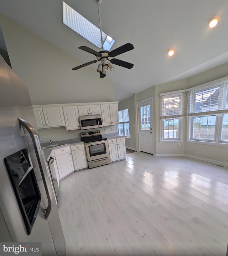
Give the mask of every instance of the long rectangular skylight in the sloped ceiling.
<svg viewBox="0 0 228 256">
<path fill-rule="evenodd" d="M 79 35 L 92 42 L 92 44 L 102 49 L 102 42 L 100 40 L 100 29 L 93 25 L 86 18 L 84 18 L 76 10 L 71 8 L 71 6 L 67 5 L 65 2 L 63 2 L 63 24 L 67 25 Z M 102 38 L 104 45 L 103 50 L 109 51 L 113 46 L 115 40 L 105 34 L 103 31 Z"/>
</svg>

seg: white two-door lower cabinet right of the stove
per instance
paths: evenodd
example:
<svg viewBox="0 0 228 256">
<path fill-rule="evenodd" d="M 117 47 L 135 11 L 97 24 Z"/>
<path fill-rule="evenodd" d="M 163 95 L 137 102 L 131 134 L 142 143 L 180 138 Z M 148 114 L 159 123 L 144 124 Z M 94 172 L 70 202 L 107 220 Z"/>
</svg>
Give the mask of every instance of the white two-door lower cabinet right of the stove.
<svg viewBox="0 0 228 256">
<path fill-rule="evenodd" d="M 110 154 L 110 162 L 126 158 L 126 147 L 124 137 L 109 139 L 108 147 Z"/>
</svg>

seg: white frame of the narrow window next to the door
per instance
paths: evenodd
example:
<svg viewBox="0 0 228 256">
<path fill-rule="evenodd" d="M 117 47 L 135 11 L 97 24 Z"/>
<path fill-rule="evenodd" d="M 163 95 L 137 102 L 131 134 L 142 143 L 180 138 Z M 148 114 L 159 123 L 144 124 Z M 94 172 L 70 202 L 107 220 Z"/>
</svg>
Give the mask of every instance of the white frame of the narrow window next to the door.
<svg viewBox="0 0 228 256">
<path fill-rule="evenodd" d="M 164 97 L 180 96 L 181 102 L 178 115 L 165 116 L 163 109 Z M 185 90 L 166 92 L 160 94 L 160 143 L 166 142 L 183 142 L 183 119 L 184 119 Z M 178 138 L 164 138 L 164 121 L 178 119 Z"/>
</svg>

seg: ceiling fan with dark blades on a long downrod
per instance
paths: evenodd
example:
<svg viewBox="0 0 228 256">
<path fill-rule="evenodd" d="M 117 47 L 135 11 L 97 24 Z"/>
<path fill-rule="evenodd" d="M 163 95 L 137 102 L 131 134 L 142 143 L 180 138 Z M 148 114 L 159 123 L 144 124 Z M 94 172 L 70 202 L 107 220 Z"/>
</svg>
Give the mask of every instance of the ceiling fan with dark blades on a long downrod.
<svg viewBox="0 0 228 256">
<path fill-rule="evenodd" d="M 95 0 L 97 2 L 98 5 L 98 14 L 99 14 L 99 22 L 100 22 L 100 35 L 101 35 L 101 42 L 102 42 L 102 49 L 104 49 L 104 45 L 103 45 L 103 40 L 102 40 L 102 28 L 101 28 L 101 21 L 100 21 L 100 9 L 99 9 L 99 4 L 102 3 L 102 0 Z M 87 51 L 93 55 L 95 55 L 97 57 L 97 60 L 92 60 L 89 61 L 85 64 L 82 64 L 80 66 L 74 67 L 72 70 L 77 70 L 77 69 L 81 69 L 82 67 L 88 66 L 90 64 L 93 64 L 95 62 L 100 61 L 98 67 L 97 67 L 97 71 L 100 73 L 100 78 L 105 77 L 105 75 L 107 74 L 107 70 L 110 69 L 111 71 L 114 69 L 114 67 L 111 65 L 115 64 L 121 67 L 125 67 L 126 69 L 131 69 L 134 65 L 123 61 L 123 60 L 119 60 L 119 59 L 111 59 L 111 57 L 115 57 L 117 55 L 120 55 L 124 52 L 130 51 L 134 49 L 133 44 L 127 43 L 125 45 L 122 45 L 112 51 L 107 51 L 107 50 L 102 50 L 102 51 L 95 51 L 87 46 L 80 46 L 78 47 L 79 49 L 83 50 L 83 51 Z"/>
</svg>

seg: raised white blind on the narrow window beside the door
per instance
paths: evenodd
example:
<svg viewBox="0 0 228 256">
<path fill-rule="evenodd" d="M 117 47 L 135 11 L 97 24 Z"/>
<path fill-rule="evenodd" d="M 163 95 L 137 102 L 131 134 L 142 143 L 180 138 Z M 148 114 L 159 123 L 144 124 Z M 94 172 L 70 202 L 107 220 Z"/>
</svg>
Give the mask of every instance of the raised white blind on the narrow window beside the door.
<svg viewBox="0 0 228 256">
<path fill-rule="evenodd" d="M 184 116 L 185 90 L 160 94 L 161 119 Z"/>
</svg>

